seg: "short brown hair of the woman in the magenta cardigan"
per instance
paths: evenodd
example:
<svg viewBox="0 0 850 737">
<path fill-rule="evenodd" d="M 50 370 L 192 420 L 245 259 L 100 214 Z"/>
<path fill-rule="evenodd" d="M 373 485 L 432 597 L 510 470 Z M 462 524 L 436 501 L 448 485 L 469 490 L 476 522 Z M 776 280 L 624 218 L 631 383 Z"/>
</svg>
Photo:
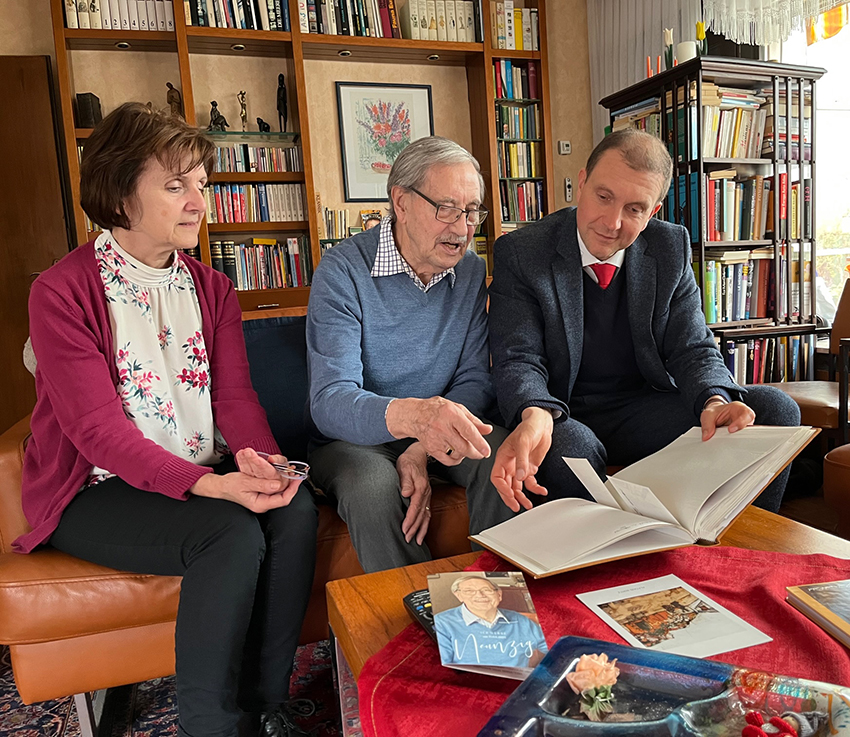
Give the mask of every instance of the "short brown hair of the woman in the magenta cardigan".
<svg viewBox="0 0 850 737">
<path fill-rule="evenodd" d="M 215 144 L 182 118 L 124 103 L 98 123 L 83 148 L 80 204 L 92 222 L 130 229 L 125 205 L 152 158 L 180 174 L 197 166 L 211 174 Z"/>
</svg>

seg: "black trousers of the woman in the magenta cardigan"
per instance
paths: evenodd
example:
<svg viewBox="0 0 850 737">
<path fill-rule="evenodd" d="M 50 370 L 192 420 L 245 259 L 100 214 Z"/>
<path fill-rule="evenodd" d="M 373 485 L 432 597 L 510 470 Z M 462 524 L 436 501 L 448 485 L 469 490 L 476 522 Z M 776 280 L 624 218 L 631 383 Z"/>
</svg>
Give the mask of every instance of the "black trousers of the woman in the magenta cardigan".
<svg viewBox="0 0 850 737">
<path fill-rule="evenodd" d="M 234 470 L 232 461 L 217 472 Z M 316 558 L 317 512 L 302 488 L 257 515 L 221 499 L 178 501 L 111 478 L 78 494 L 50 539 L 78 558 L 180 575 L 181 737 L 234 737 L 239 709 L 286 701 Z"/>
</svg>

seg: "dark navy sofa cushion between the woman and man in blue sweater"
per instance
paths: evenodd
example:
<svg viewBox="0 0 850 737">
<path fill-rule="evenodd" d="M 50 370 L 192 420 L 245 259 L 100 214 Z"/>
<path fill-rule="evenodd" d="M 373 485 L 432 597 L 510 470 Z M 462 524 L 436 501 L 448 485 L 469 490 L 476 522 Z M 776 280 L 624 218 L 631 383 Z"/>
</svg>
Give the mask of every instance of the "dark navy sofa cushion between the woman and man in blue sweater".
<svg viewBox="0 0 850 737">
<path fill-rule="evenodd" d="M 272 433 L 287 458 L 307 460 L 306 317 L 268 317 L 242 323 L 251 382 Z"/>
</svg>

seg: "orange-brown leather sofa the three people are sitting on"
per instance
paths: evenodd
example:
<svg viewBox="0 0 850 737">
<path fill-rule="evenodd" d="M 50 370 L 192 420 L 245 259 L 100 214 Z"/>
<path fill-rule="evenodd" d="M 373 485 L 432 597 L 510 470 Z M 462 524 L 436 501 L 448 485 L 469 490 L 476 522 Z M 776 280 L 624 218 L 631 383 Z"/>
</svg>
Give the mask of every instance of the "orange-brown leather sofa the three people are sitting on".
<svg viewBox="0 0 850 737">
<path fill-rule="evenodd" d="M 11 552 L 12 541 L 29 529 L 21 511 L 28 436 L 29 418 L 0 435 L 0 643 L 10 647 L 21 698 L 45 701 L 172 674 L 178 577 L 115 571 L 57 550 Z M 435 486 L 431 510 L 427 541 L 434 556 L 468 552 L 463 489 Z M 302 643 L 327 637 L 325 583 L 361 573 L 345 523 L 320 504 Z"/>
</svg>

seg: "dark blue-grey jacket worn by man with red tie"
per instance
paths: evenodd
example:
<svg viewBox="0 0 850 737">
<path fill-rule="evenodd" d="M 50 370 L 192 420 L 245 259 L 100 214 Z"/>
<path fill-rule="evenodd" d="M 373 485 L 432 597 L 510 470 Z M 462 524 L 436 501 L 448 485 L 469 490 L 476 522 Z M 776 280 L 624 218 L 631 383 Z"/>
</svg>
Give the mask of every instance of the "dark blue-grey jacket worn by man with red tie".
<svg viewBox="0 0 850 737">
<path fill-rule="evenodd" d="M 651 218 L 626 249 L 624 266 L 635 358 L 647 383 L 681 392 L 688 406 L 713 387 L 733 398 L 744 394 L 706 327 L 687 231 Z M 496 395 L 509 427 L 529 405 L 569 415 L 584 341 L 583 289 L 575 208 L 496 241 L 490 348 Z"/>
</svg>

